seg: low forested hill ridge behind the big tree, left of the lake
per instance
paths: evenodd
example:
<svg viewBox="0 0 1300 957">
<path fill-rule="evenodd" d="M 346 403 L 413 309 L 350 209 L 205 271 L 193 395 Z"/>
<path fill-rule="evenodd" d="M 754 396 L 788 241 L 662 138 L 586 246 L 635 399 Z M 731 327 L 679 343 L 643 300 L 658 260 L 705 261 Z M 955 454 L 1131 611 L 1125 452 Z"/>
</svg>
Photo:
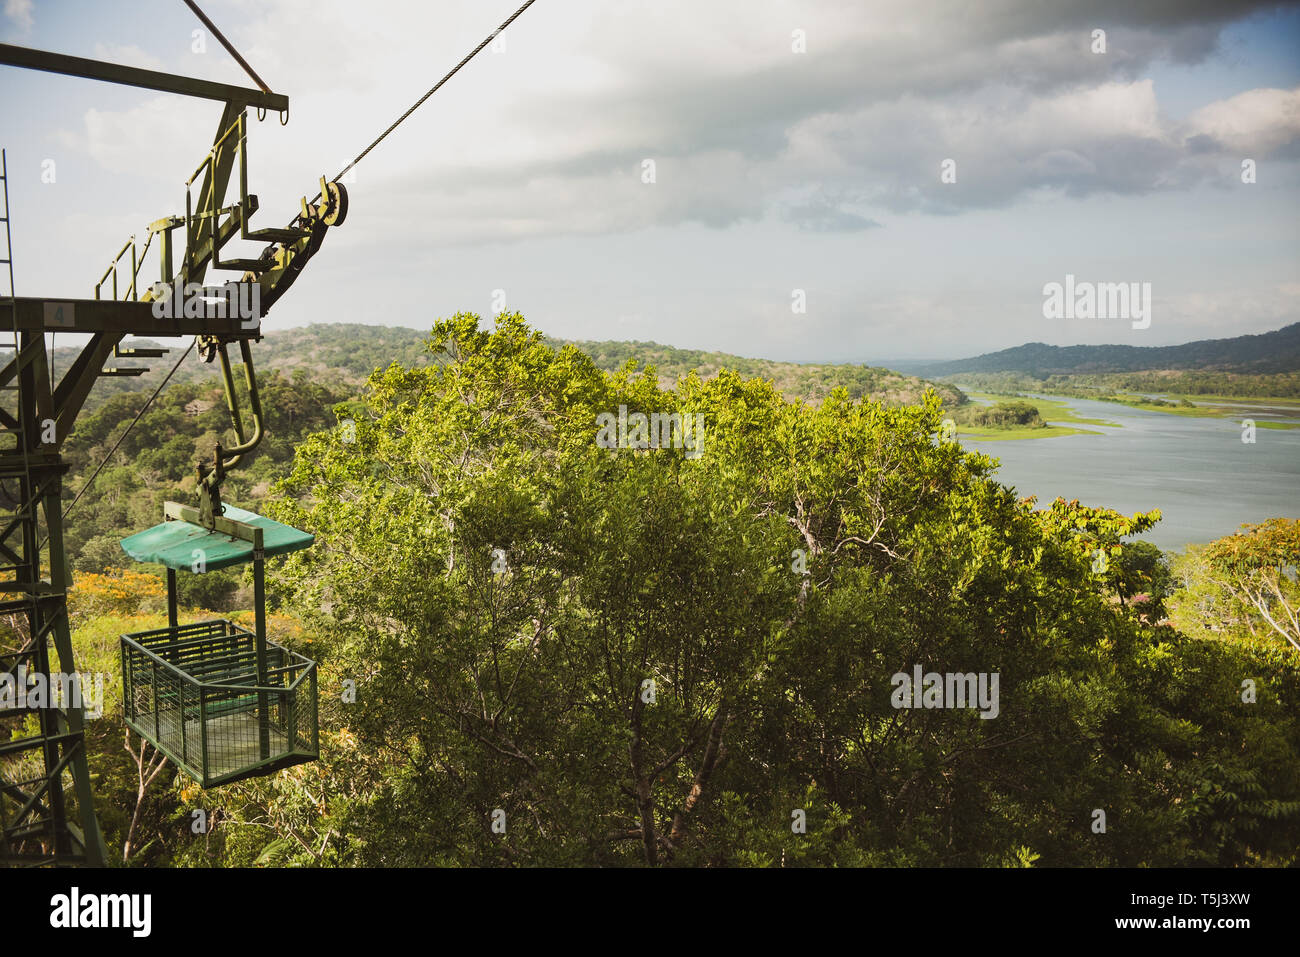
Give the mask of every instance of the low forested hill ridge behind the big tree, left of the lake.
<svg viewBox="0 0 1300 957">
<path fill-rule="evenodd" d="M 406 367 L 424 365 L 430 360 L 424 347 L 426 332 L 402 326 L 361 325 L 355 322 L 328 322 L 268 332 L 266 337 L 254 346 L 254 363 L 259 373 L 280 371 L 292 376 L 302 369 L 316 381 L 343 382 L 359 386 L 374 369 L 386 368 L 391 363 Z M 918 402 L 927 387 L 933 387 L 949 406 L 961 404 L 965 395 L 952 385 L 928 382 L 916 376 L 907 376 L 892 369 L 854 364 L 801 364 L 781 363 L 770 359 L 746 359 L 727 352 L 703 352 L 699 350 L 675 348 L 658 342 L 572 342 L 549 339 L 562 347 L 575 345 L 606 372 L 621 368 L 629 359 L 636 359 L 641 367 L 653 365 L 662 380 L 676 381 L 680 376 L 696 371 L 708 378 L 720 369 L 732 369 L 744 376 L 759 376 L 772 380 L 777 389 L 788 397 L 800 397 L 812 402 L 826 398 L 832 389 L 844 386 L 853 398 L 868 397 L 887 404 L 910 404 Z M 126 345 L 143 346 L 146 341 Z M 183 347 L 182 347 L 183 348 Z M 73 360 L 72 351 L 58 350 L 56 364 L 68 368 Z M 90 408 L 99 407 L 109 395 L 121 391 L 152 390 L 176 361 L 177 352 L 153 360 L 153 368 L 146 376 L 135 378 L 100 380 L 87 403 Z M 122 360 L 118 364 L 131 364 Z M 173 381 L 194 382 L 216 380 L 217 364 L 205 365 L 190 356 L 177 372 Z"/>
</svg>

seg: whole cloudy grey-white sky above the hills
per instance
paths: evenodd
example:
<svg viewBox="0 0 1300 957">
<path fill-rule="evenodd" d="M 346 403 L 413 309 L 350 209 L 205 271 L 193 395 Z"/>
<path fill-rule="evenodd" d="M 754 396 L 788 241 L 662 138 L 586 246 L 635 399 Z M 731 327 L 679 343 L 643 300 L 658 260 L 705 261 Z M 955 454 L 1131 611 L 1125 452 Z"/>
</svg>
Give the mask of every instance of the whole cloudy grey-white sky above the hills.
<svg viewBox="0 0 1300 957">
<path fill-rule="evenodd" d="M 6 43 L 250 85 L 214 39 L 194 51 L 181 0 L 0 4 Z M 291 101 L 287 126 L 254 124 L 255 225 L 517 4 L 203 0 Z M 131 233 L 185 211 L 220 112 L 0 68 L 18 293 L 90 296 Z M 428 328 L 500 289 L 551 335 L 774 359 L 1266 332 L 1300 317 L 1300 9 L 537 0 L 350 194 L 266 328 Z M 1044 319 L 1066 274 L 1150 282 L 1149 328 Z"/>
</svg>

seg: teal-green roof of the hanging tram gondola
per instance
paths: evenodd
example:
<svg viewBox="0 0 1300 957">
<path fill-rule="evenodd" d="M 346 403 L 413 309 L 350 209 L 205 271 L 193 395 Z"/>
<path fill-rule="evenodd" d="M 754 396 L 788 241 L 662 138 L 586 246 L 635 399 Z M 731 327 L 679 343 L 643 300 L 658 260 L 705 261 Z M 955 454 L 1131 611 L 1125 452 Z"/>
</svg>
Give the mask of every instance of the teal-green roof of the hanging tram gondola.
<svg viewBox="0 0 1300 957">
<path fill-rule="evenodd" d="M 306 549 L 316 541 L 316 536 L 309 532 L 233 505 L 225 506 L 222 518 L 260 528 L 266 558 Z M 136 562 L 159 562 L 177 571 L 194 571 L 196 549 L 203 551 L 205 571 L 252 562 L 252 542 L 225 532 L 213 532 L 192 521 L 164 521 L 122 540 L 122 551 Z"/>
</svg>

